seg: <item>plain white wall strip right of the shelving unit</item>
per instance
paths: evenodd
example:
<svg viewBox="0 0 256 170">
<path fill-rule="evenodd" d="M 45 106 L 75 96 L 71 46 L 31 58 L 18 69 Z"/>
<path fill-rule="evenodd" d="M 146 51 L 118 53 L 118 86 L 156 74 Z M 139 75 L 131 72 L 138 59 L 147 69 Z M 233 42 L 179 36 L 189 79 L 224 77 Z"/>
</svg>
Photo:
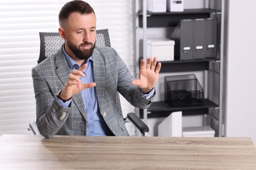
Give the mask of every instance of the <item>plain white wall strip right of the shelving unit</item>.
<svg viewBox="0 0 256 170">
<path fill-rule="evenodd" d="M 256 144 L 256 1 L 228 3 L 225 135 Z"/>
</svg>

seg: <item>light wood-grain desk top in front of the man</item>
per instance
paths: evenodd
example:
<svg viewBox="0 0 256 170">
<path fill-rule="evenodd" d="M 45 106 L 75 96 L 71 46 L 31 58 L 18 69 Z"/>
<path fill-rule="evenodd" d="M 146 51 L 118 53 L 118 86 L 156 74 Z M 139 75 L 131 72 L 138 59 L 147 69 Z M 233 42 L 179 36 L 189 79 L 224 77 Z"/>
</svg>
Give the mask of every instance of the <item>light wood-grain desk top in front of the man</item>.
<svg viewBox="0 0 256 170">
<path fill-rule="evenodd" d="M 250 138 L 2 135 L 0 169 L 256 169 Z"/>
</svg>

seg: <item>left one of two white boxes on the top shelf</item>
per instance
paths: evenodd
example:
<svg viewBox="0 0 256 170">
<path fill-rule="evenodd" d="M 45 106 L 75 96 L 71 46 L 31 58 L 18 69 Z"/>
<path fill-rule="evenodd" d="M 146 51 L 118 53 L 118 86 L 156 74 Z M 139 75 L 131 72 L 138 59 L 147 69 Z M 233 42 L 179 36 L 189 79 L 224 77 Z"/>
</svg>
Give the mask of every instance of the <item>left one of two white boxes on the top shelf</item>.
<svg viewBox="0 0 256 170">
<path fill-rule="evenodd" d="M 146 10 L 150 12 L 166 12 L 166 0 L 148 0 Z"/>
</svg>

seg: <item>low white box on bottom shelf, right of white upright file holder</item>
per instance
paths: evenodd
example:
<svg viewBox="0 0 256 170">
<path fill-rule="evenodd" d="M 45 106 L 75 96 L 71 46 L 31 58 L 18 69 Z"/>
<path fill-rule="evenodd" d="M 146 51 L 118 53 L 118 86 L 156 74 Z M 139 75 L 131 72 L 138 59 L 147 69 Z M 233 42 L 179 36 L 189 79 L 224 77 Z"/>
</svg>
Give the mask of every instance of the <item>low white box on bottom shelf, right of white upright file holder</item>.
<svg viewBox="0 0 256 170">
<path fill-rule="evenodd" d="M 183 137 L 214 137 L 215 131 L 210 126 L 182 127 Z"/>
</svg>

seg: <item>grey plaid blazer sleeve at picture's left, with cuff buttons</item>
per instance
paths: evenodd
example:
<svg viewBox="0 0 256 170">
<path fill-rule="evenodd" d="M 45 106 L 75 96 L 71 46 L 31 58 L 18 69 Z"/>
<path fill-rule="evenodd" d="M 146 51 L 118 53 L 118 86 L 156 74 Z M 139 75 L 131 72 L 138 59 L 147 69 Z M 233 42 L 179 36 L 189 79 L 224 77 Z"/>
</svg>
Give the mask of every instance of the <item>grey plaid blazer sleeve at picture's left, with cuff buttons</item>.
<svg viewBox="0 0 256 170">
<path fill-rule="evenodd" d="M 32 78 L 36 101 L 37 127 L 41 135 L 51 138 L 64 125 L 70 107 L 64 108 L 58 103 L 55 92 L 57 90 L 49 87 L 49 82 L 40 75 L 37 67 L 32 69 Z"/>
</svg>

